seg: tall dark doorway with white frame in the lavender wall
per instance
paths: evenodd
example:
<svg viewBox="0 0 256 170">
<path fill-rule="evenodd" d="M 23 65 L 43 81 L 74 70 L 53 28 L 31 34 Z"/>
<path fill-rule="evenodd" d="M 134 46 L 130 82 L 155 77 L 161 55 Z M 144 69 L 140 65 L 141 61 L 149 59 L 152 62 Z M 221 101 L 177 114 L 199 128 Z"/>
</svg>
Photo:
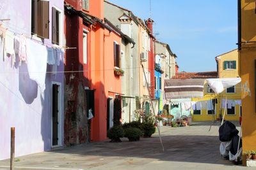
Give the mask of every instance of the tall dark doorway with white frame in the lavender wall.
<svg viewBox="0 0 256 170">
<path fill-rule="evenodd" d="M 61 145 L 61 85 L 52 83 L 52 146 Z"/>
</svg>

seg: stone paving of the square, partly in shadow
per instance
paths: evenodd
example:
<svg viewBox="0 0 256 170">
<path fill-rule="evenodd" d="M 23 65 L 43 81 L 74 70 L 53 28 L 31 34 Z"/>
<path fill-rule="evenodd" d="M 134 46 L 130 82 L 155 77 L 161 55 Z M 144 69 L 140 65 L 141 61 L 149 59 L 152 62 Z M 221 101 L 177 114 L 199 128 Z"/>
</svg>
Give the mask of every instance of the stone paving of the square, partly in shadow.
<svg viewBox="0 0 256 170">
<path fill-rule="evenodd" d="M 220 123 L 209 131 L 210 124 L 161 127 L 164 152 L 156 133 L 136 142 L 124 138 L 122 143 L 89 143 L 19 157 L 15 169 L 253 169 L 220 157 Z M 10 160 L 0 161 L 0 169 L 9 165 Z"/>
</svg>

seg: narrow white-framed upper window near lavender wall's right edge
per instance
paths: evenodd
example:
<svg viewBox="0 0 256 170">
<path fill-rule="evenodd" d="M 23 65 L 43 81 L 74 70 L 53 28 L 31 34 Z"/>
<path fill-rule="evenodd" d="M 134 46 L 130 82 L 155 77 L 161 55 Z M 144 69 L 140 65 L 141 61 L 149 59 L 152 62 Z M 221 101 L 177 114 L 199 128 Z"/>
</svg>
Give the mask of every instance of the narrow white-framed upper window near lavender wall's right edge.
<svg viewBox="0 0 256 170">
<path fill-rule="evenodd" d="M 52 7 L 52 43 L 60 45 L 61 12 Z"/>
</svg>

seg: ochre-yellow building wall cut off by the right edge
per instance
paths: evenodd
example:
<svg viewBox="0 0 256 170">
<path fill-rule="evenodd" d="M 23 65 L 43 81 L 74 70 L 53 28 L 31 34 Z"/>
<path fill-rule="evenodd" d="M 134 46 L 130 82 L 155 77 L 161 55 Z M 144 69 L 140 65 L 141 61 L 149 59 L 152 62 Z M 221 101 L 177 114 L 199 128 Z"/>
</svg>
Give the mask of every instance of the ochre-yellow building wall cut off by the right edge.
<svg viewBox="0 0 256 170">
<path fill-rule="evenodd" d="M 256 14 L 255 0 L 238 1 L 238 49 L 241 57 L 243 152 L 256 150 Z M 243 157 L 245 158 L 245 157 Z M 245 159 L 243 159 L 245 160 Z M 245 161 L 243 161 L 245 163 Z"/>
</svg>

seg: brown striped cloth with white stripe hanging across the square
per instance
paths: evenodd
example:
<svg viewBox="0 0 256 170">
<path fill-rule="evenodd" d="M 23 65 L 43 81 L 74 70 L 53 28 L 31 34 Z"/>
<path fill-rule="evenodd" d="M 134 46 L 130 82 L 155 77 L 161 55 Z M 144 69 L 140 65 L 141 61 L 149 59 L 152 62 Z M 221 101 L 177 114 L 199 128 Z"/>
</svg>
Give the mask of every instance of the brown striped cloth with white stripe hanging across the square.
<svg viewBox="0 0 256 170">
<path fill-rule="evenodd" d="M 204 97 L 205 79 L 165 80 L 165 99 L 188 99 Z"/>
</svg>

